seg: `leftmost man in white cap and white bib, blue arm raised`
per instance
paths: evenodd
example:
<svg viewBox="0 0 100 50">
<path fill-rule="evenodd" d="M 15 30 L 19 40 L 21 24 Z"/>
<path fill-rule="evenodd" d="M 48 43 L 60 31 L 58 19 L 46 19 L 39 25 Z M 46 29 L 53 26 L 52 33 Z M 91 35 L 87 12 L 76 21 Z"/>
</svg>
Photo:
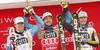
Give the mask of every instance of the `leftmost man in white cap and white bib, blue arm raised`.
<svg viewBox="0 0 100 50">
<path fill-rule="evenodd" d="M 28 7 L 25 8 L 25 10 Z M 30 10 L 29 10 L 30 11 Z M 26 13 L 26 12 L 25 12 Z M 36 20 L 39 27 L 41 27 L 41 19 L 39 17 L 36 17 Z M 34 34 L 38 34 L 39 29 L 37 27 L 37 25 L 32 25 L 31 29 L 26 29 L 24 27 L 25 22 L 27 23 L 27 21 L 22 18 L 22 17 L 16 17 L 14 24 L 15 24 L 15 42 L 16 42 L 16 50 L 32 50 L 32 39 Z M 11 50 L 11 42 L 10 42 L 10 37 L 8 36 L 7 38 L 7 46 L 6 46 L 6 50 Z"/>
</svg>

